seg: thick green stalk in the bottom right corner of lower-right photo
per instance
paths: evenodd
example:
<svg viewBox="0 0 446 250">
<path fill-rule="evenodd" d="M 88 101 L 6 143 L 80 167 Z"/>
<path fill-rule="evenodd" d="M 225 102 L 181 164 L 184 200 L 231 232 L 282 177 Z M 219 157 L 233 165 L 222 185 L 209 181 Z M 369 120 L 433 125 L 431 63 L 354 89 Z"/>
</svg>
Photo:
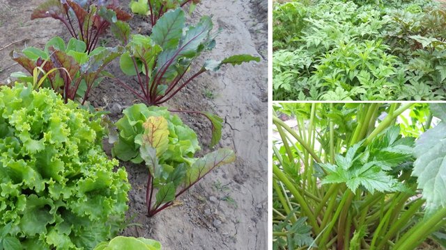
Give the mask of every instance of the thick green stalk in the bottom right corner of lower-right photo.
<svg viewBox="0 0 446 250">
<path fill-rule="evenodd" d="M 410 250 L 418 247 L 418 242 L 427 238 L 431 233 L 431 228 L 437 226 L 438 223 L 441 225 L 446 224 L 446 208 L 440 208 L 436 213 L 427 219 L 423 219 L 417 222 L 413 228 L 405 233 L 394 246 L 394 250 Z"/>
</svg>

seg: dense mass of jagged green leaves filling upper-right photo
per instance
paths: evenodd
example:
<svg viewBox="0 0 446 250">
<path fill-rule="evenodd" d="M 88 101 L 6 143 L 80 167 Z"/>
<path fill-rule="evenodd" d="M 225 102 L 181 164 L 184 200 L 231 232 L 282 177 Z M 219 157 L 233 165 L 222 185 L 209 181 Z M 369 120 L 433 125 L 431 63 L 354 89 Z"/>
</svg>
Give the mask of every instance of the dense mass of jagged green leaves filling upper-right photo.
<svg viewBox="0 0 446 250">
<path fill-rule="evenodd" d="M 273 100 L 445 99 L 443 1 L 273 5 Z"/>
</svg>

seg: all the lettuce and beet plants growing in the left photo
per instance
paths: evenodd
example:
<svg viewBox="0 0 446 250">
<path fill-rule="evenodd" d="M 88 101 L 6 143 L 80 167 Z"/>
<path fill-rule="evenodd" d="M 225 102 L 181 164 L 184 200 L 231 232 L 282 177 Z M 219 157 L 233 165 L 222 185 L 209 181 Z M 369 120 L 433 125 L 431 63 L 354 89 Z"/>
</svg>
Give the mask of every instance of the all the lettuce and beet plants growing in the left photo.
<svg viewBox="0 0 446 250">
<path fill-rule="evenodd" d="M 116 0 L 48 0 L 33 11 L 31 19 L 58 19 L 72 38 L 11 53 L 31 76 L 16 73 L 19 83 L 0 89 L 0 249 L 160 249 L 159 242 L 144 238 L 106 242 L 125 227 L 130 185 L 118 160 L 102 150 L 103 138 L 114 143 L 114 157 L 146 165 L 148 216 L 235 160 L 231 149 L 195 157 L 196 133 L 171 114 L 178 110 L 159 107 L 204 72 L 259 61 L 249 55 L 206 60 L 190 73 L 217 36 L 210 17 L 186 24 L 183 8 L 192 11 L 197 3 L 130 1 L 132 12 L 148 16 L 150 35 L 132 34 L 132 15 Z M 98 46 L 107 31 L 119 45 Z M 134 76 L 139 90 L 105 71 L 112 60 Z M 116 124 L 89 104 L 91 89 L 105 78 L 142 102 L 123 110 Z M 206 116 L 211 147 L 218 144 L 220 117 L 184 112 Z"/>
</svg>

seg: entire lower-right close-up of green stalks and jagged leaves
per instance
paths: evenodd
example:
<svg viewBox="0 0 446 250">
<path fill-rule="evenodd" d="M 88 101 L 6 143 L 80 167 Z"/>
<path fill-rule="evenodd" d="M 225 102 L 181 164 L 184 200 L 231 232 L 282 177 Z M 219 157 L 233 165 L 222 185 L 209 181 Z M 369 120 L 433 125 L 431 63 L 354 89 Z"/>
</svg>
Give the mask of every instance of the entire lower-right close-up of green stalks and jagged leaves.
<svg viewBox="0 0 446 250">
<path fill-rule="evenodd" d="M 280 103 L 275 111 L 274 249 L 445 247 L 444 104 Z"/>
</svg>

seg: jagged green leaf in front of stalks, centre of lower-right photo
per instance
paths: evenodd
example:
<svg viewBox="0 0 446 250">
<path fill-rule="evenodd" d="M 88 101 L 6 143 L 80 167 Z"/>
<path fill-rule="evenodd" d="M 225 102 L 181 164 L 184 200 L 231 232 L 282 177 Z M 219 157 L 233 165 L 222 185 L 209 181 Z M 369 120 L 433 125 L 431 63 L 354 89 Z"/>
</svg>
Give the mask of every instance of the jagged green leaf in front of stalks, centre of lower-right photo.
<svg viewBox="0 0 446 250">
<path fill-rule="evenodd" d="M 321 164 L 327 173 L 322 183 L 346 183 L 352 192 L 362 187 L 371 194 L 401 191 L 403 185 L 390 171 L 410 160 L 413 144 L 413 138 L 399 136 L 399 127 L 389 128 L 364 151 L 358 151 L 360 142 L 350 147 L 346 156 L 337 155 L 336 165 Z"/>
</svg>

